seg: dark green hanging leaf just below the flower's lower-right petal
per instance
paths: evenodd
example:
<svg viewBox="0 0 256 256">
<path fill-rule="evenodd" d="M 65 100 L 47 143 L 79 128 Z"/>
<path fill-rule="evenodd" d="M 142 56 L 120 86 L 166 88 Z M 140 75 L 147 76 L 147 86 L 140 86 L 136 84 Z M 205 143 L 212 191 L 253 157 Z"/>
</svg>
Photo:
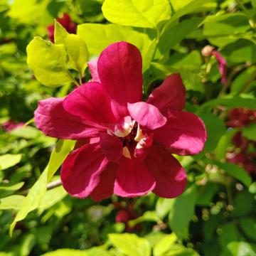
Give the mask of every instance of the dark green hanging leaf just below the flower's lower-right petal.
<svg viewBox="0 0 256 256">
<path fill-rule="evenodd" d="M 188 188 L 181 196 L 172 199 L 169 225 L 179 238 L 188 238 L 188 225 L 193 218 L 196 206 L 196 186 Z"/>
</svg>

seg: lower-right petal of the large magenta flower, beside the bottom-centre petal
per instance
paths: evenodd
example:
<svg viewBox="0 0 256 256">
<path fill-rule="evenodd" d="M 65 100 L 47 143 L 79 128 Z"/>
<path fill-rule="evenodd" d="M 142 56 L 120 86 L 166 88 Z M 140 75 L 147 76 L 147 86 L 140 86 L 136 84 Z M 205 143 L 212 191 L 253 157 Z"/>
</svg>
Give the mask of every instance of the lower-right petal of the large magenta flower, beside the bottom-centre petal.
<svg viewBox="0 0 256 256">
<path fill-rule="evenodd" d="M 154 193 L 164 198 L 175 198 L 186 188 L 186 171 L 177 159 L 161 146 L 152 146 L 145 159 L 147 168 L 156 179 Z"/>
</svg>

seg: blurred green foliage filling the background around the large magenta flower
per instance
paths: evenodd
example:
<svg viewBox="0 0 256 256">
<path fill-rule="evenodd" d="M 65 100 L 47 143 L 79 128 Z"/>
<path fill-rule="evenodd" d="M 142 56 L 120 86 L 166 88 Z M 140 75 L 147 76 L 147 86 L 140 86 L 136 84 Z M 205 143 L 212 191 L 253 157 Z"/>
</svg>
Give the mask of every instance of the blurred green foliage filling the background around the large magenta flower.
<svg viewBox="0 0 256 256">
<path fill-rule="evenodd" d="M 58 45 L 50 45 L 46 28 L 64 13 L 79 24 L 78 36 L 59 26 Z M 255 0 L 1 0 L 0 255 L 256 255 L 255 21 Z M 141 50 L 145 96 L 178 71 L 186 110 L 206 123 L 204 151 L 178 157 L 188 173 L 178 198 L 112 196 L 95 203 L 61 186 L 46 190 L 74 142 L 56 144 L 34 127 L 37 102 L 89 80 L 87 60 L 116 41 Z M 38 80 L 26 63 L 28 43 Z M 228 63 L 224 85 L 216 58 L 201 55 L 208 44 Z M 232 115 L 237 107 L 242 114 Z M 238 132 L 246 152 L 234 139 Z M 233 159 L 239 154 L 250 156 L 250 168 Z"/>
</svg>

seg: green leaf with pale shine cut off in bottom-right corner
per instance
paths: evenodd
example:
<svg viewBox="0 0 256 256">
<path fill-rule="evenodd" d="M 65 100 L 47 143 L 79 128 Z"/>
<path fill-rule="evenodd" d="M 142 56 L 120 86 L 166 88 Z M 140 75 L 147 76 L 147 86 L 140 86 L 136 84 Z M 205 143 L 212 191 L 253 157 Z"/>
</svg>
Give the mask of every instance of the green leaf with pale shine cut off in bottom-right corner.
<svg viewBox="0 0 256 256">
<path fill-rule="evenodd" d="M 256 247 L 247 242 L 230 242 L 228 250 L 232 256 L 256 256 Z"/>
</svg>

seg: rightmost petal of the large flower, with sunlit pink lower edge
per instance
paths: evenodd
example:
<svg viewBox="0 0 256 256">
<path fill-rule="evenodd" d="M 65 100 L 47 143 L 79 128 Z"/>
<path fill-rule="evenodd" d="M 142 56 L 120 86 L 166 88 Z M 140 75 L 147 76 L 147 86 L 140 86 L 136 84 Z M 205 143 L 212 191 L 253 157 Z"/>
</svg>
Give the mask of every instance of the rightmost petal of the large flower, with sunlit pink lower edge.
<svg viewBox="0 0 256 256">
<path fill-rule="evenodd" d="M 154 142 L 182 156 L 202 151 L 206 137 L 203 121 L 191 112 L 170 112 L 164 127 L 154 131 Z"/>
</svg>

